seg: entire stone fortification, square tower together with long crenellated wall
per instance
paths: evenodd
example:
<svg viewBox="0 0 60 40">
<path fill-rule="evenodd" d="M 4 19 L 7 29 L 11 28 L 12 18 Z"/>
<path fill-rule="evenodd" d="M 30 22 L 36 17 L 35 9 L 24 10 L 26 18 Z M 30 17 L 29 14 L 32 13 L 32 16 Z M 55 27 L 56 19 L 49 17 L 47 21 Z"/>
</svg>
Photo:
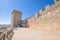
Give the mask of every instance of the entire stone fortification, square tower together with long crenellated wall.
<svg viewBox="0 0 60 40">
<path fill-rule="evenodd" d="M 22 20 L 22 12 L 14 10 L 12 12 L 12 28 L 18 23 L 32 29 L 38 29 L 51 33 L 60 33 L 60 0 L 54 0 L 54 5 L 47 5 L 45 10 L 40 10 L 38 14 Z"/>
</svg>

